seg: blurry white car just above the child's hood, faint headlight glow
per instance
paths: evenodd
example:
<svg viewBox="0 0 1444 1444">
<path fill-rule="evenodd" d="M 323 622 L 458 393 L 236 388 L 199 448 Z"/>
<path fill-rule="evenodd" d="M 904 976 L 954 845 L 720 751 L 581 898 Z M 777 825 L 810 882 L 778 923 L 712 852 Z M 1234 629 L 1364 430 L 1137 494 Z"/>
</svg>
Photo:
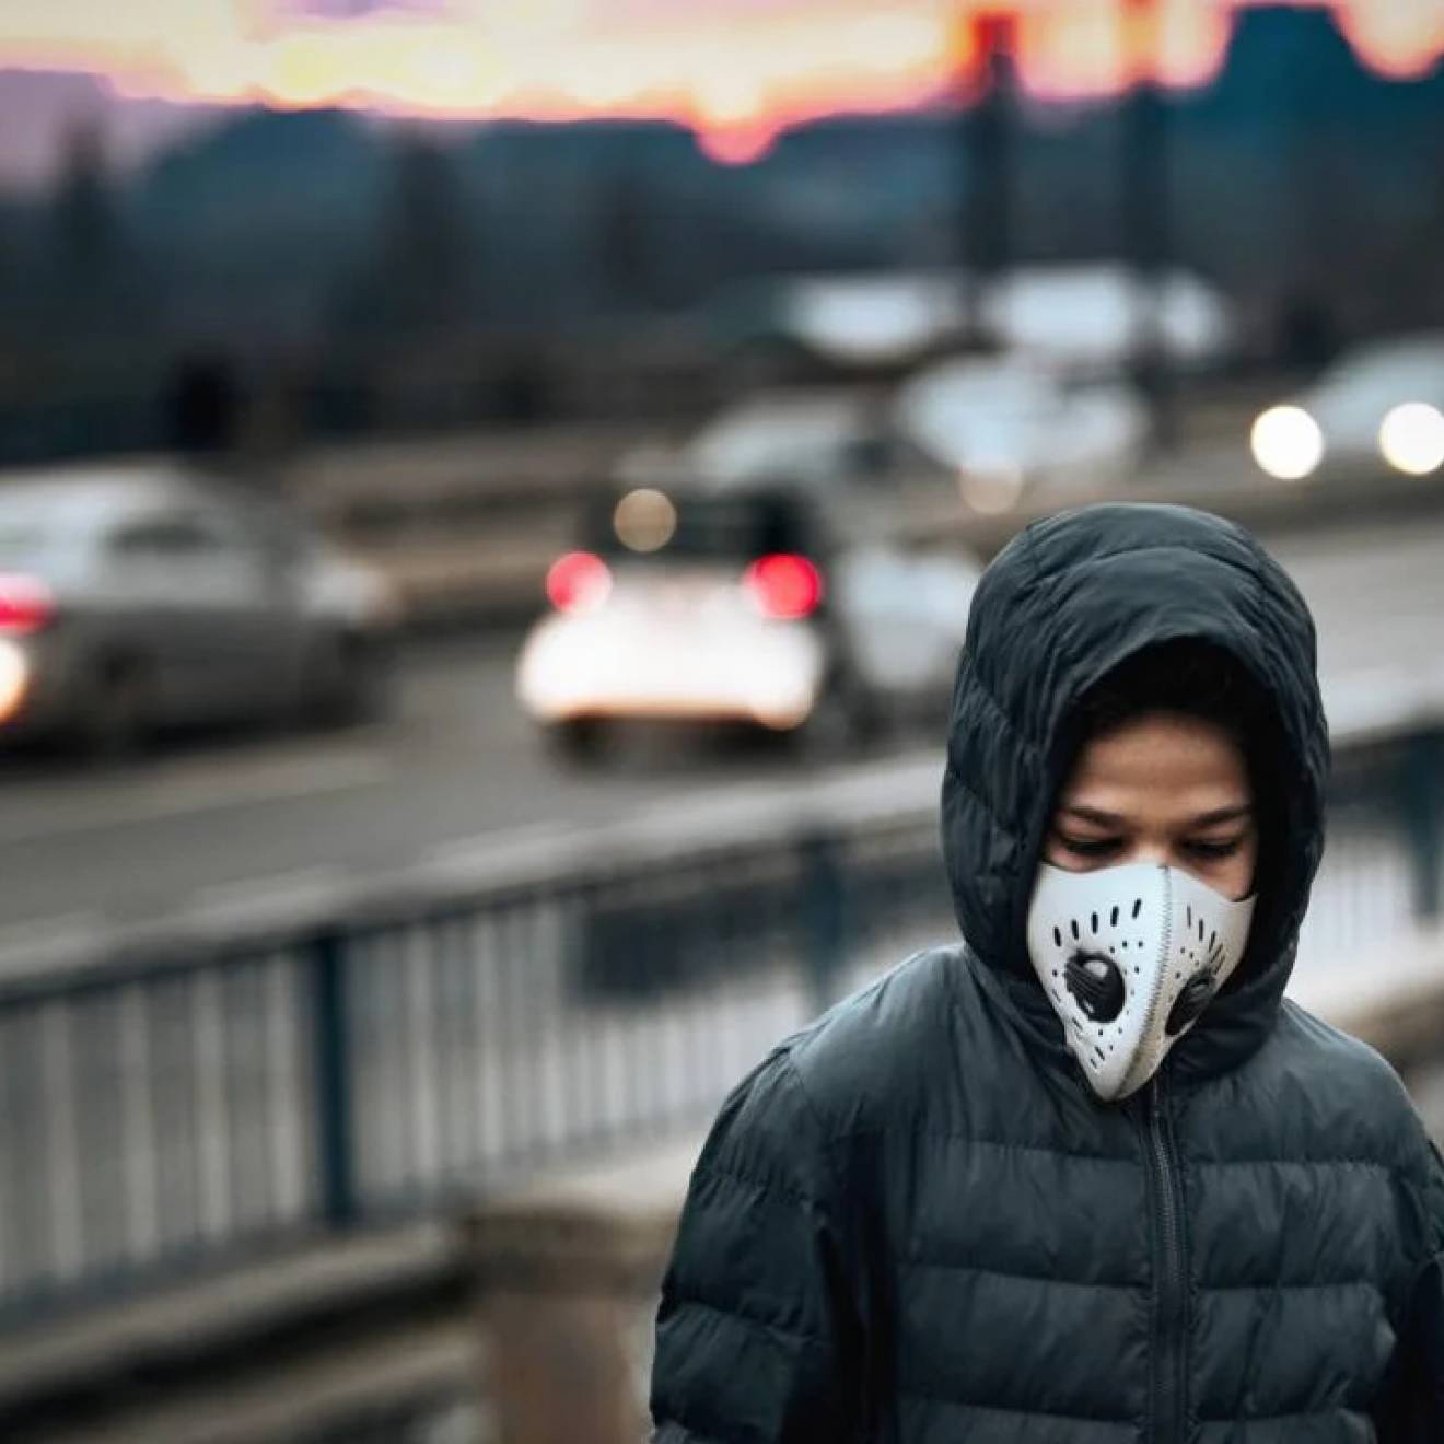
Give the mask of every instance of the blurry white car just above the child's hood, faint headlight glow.
<svg viewBox="0 0 1444 1444">
<path fill-rule="evenodd" d="M 1009 510 L 1034 488 L 1106 484 L 1148 443 L 1148 410 L 1123 383 L 1070 383 L 1017 360 L 928 367 L 897 400 L 898 429 L 950 468 L 976 511 Z"/>
</svg>

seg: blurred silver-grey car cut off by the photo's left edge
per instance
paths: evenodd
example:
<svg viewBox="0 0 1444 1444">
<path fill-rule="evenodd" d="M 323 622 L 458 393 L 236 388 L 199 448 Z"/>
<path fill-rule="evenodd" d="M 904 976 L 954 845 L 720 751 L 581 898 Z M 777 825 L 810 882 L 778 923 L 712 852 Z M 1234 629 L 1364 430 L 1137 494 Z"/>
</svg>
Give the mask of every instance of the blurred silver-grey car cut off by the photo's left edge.
<svg viewBox="0 0 1444 1444">
<path fill-rule="evenodd" d="M 0 741 L 380 705 L 387 585 L 290 508 L 172 465 L 0 481 Z"/>
</svg>

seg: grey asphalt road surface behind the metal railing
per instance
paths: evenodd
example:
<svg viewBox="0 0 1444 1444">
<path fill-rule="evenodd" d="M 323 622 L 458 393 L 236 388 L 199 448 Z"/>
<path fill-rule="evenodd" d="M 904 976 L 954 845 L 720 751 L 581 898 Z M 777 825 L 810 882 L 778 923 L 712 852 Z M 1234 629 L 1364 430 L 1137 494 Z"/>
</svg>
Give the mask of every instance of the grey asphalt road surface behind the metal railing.
<svg viewBox="0 0 1444 1444">
<path fill-rule="evenodd" d="M 1444 676 L 1444 518 L 1276 543 L 1313 604 L 1331 712 L 1388 712 Z M 890 748 L 917 751 L 897 739 Z M 244 914 L 257 898 L 426 868 L 705 791 L 794 777 L 786 748 L 559 767 L 511 700 L 511 647 L 412 654 L 396 715 L 342 734 L 196 739 L 108 771 L 0 764 L 0 962 L 116 923 Z"/>
</svg>

